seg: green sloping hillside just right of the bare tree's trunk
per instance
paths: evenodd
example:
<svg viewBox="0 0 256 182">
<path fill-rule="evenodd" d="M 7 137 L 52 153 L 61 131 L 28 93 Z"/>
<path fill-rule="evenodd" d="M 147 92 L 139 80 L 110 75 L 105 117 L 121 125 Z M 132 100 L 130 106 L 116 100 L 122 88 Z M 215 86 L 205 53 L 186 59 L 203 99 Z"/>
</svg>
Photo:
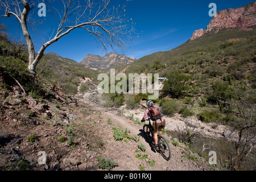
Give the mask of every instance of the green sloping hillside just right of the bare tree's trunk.
<svg viewBox="0 0 256 182">
<path fill-rule="evenodd" d="M 85 68 L 84 65 L 67 57 L 61 57 L 54 52 L 44 53 L 39 61 L 36 72 L 47 82 L 61 85 L 65 93 L 74 95 L 80 78 L 97 80 L 98 71 Z"/>
</svg>

